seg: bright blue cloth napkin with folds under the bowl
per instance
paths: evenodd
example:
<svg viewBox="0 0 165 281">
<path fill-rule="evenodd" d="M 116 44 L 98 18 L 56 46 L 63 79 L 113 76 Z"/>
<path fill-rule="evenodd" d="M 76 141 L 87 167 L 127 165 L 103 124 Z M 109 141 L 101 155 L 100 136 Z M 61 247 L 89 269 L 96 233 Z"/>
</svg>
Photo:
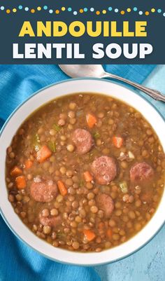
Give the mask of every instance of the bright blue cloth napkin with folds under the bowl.
<svg viewBox="0 0 165 281">
<path fill-rule="evenodd" d="M 154 65 L 106 65 L 106 71 L 142 83 Z M 68 78 L 56 65 L 0 66 L 0 127 L 27 97 Z M 18 240 L 0 217 L 0 281 L 99 281 L 93 268 L 50 261 Z"/>
</svg>

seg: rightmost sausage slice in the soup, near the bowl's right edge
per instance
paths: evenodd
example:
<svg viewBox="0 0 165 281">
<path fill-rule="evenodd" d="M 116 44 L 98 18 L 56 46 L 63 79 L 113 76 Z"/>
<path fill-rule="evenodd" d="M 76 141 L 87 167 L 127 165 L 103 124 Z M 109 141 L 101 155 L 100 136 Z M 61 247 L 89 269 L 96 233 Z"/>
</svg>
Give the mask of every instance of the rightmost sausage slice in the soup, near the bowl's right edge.
<svg viewBox="0 0 165 281">
<path fill-rule="evenodd" d="M 131 181 L 144 181 L 145 179 L 151 179 L 153 175 L 154 170 L 145 162 L 135 163 L 129 171 Z"/>
</svg>

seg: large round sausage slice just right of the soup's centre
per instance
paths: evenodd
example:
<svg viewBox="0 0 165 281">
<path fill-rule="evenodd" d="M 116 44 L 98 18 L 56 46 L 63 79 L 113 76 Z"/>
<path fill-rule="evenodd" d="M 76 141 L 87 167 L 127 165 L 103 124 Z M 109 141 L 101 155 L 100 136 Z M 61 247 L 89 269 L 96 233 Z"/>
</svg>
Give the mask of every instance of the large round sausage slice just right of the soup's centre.
<svg viewBox="0 0 165 281">
<path fill-rule="evenodd" d="M 98 184 L 109 184 L 116 177 L 117 165 L 113 158 L 101 156 L 94 160 L 91 170 Z"/>
</svg>

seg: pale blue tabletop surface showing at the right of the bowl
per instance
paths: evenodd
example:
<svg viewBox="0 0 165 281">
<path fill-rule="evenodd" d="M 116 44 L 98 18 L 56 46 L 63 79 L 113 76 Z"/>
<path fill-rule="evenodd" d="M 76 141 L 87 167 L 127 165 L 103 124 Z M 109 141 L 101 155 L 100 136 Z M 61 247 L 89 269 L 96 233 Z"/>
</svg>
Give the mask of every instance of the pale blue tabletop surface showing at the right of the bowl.
<svg viewBox="0 0 165 281">
<path fill-rule="evenodd" d="M 159 66 L 144 83 L 165 94 L 165 66 Z M 142 94 L 143 95 L 143 94 Z M 148 97 L 165 117 L 165 103 Z M 165 132 L 164 132 L 165 137 Z M 164 206 L 165 211 L 165 206 Z M 165 212 L 164 212 L 165 214 Z M 165 226 L 148 245 L 122 261 L 95 268 L 102 281 L 164 281 L 165 280 Z"/>
</svg>

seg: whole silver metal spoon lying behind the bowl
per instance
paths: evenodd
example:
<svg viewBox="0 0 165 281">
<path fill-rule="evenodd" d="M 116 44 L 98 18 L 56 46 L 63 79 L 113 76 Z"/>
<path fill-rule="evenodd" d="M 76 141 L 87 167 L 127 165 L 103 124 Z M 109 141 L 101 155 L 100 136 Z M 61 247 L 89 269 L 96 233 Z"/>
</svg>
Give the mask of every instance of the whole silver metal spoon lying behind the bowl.
<svg viewBox="0 0 165 281">
<path fill-rule="evenodd" d="M 129 85 L 132 85 L 133 87 L 137 88 L 138 90 L 141 90 L 145 92 L 146 94 L 150 95 L 155 100 L 162 100 L 162 102 L 165 102 L 165 95 L 162 95 L 161 92 L 158 90 L 152 90 L 150 88 L 147 88 L 143 85 L 140 85 L 138 83 L 129 81 L 125 78 L 122 78 L 120 76 L 110 74 L 106 71 L 104 71 L 101 64 L 59 64 L 59 67 L 64 71 L 65 74 L 72 78 L 77 77 L 95 77 L 95 78 L 113 78 L 116 80 L 120 80 L 124 83 L 127 83 Z"/>
</svg>

